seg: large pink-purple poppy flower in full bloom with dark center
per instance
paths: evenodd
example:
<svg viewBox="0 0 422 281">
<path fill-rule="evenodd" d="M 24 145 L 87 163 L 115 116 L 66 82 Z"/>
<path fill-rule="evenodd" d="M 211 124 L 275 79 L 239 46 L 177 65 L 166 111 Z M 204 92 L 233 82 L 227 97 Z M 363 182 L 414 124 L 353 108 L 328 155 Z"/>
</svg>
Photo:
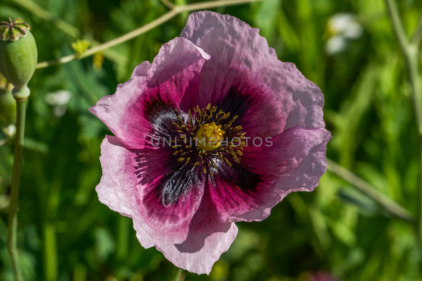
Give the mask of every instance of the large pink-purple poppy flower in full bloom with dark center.
<svg viewBox="0 0 422 281">
<path fill-rule="evenodd" d="M 234 222 L 265 219 L 290 192 L 318 185 L 330 139 L 323 104 L 258 29 L 192 13 L 181 37 L 90 109 L 115 134 L 101 145 L 98 197 L 133 219 L 143 247 L 208 274 Z"/>
</svg>

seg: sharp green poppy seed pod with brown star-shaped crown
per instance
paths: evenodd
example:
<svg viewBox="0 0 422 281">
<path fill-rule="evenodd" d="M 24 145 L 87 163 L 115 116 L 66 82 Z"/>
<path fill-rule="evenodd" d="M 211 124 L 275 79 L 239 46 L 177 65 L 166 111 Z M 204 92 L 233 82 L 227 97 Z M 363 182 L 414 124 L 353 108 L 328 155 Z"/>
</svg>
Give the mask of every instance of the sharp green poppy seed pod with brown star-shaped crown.
<svg viewBox="0 0 422 281">
<path fill-rule="evenodd" d="M 27 84 L 37 66 L 37 45 L 29 29 L 22 19 L 0 22 L 0 72 L 15 87 L 15 99 L 29 96 Z"/>
</svg>

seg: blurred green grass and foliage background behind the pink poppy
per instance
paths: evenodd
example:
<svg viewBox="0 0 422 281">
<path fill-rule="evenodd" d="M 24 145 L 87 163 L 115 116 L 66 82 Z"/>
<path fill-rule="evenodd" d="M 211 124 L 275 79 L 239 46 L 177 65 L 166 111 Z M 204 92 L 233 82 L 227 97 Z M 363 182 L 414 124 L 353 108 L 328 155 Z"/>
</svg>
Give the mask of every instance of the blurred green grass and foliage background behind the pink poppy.
<svg viewBox="0 0 422 281">
<path fill-rule="evenodd" d="M 198 1 L 176 0 L 184 4 Z M 159 0 L 37 0 L 54 17 L 81 31 L 73 38 L 27 11 L 0 0 L 0 19 L 31 25 L 39 61 L 72 53 L 76 39 L 105 42 L 140 27 L 168 8 Z M 422 2 L 398 1 L 413 31 Z M 417 213 L 420 139 L 403 60 L 382 0 L 267 0 L 215 9 L 260 28 L 280 60 L 294 62 L 325 95 L 327 155 L 412 213 Z M 362 36 L 336 54 L 325 44 L 327 23 L 352 13 Z M 30 82 L 18 246 L 25 280 L 171 280 L 175 267 L 156 249 L 143 249 L 131 221 L 97 200 L 100 143 L 111 134 L 87 109 L 113 94 L 133 68 L 150 62 L 180 34 L 188 13 L 113 48 L 124 59 L 93 66 L 92 57 L 35 72 Z M 97 58 L 98 59 L 98 58 Z M 63 104 L 47 102 L 58 90 Z M 58 107 L 58 108 L 57 108 Z M 1 130 L 0 130 L 1 132 Z M 1 134 L 1 133 L 0 133 Z M 0 135 L 0 139 L 3 138 Z M 12 146 L 0 147 L 0 280 L 12 280 L 5 223 Z M 329 171 L 312 193 L 293 193 L 262 222 L 238 223 L 239 234 L 209 277 L 186 280 L 310 281 L 316 272 L 338 280 L 422 280 L 414 228 L 392 219 L 370 198 Z"/>
</svg>

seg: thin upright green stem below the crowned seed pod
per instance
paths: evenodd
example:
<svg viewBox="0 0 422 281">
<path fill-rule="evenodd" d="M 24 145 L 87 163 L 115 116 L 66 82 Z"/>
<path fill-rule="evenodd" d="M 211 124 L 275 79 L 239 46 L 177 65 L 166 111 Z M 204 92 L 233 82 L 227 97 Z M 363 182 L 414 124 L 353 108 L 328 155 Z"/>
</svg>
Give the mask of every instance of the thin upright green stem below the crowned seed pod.
<svg viewBox="0 0 422 281">
<path fill-rule="evenodd" d="M 17 209 L 18 209 L 18 194 L 19 182 L 22 170 L 22 153 L 24 146 L 25 134 L 25 113 L 26 113 L 26 99 L 16 100 L 16 138 L 14 147 L 13 159 L 13 174 L 12 174 L 12 188 L 10 193 L 10 210 L 8 217 L 8 236 L 7 236 L 7 249 L 10 254 L 12 262 L 12 269 L 15 276 L 15 281 L 21 280 L 18 253 L 16 247 L 16 228 L 17 228 Z"/>
</svg>

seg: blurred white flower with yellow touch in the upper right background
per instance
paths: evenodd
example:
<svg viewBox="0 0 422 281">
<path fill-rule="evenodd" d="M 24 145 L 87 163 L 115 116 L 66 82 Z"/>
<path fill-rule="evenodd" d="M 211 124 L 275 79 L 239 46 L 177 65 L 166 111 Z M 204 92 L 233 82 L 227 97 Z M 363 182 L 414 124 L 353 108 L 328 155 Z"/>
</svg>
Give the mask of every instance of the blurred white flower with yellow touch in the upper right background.
<svg viewBox="0 0 422 281">
<path fill-rule="evenodd" d="M 325 44 L 329 55 L 338 54 L 347 47 L 348 40 L 362 36 L 362 25 L 352 13 L 336 13 L 327 24 L 330 37 Z"/>
</svg>

